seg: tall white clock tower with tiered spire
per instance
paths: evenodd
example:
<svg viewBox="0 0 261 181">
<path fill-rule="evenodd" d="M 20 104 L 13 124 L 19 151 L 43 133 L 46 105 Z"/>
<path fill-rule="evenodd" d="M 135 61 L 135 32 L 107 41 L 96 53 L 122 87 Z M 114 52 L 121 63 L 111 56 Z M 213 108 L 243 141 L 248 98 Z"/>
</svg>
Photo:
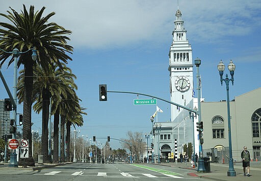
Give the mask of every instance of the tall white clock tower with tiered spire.
<svg viewBox="0 0 261 181">
<path fill-rule="evenodd" d="M 176 11 L 172 44 L 169 50 L 171 102 L 193 107 L 193 62 L 192 49 L 187 39 L 181 11 Z M 171 105 L 171 122 L 175 121 L 182 108 Z M 181 117 L 180 117 L 181 118 Z"/>
</svg>

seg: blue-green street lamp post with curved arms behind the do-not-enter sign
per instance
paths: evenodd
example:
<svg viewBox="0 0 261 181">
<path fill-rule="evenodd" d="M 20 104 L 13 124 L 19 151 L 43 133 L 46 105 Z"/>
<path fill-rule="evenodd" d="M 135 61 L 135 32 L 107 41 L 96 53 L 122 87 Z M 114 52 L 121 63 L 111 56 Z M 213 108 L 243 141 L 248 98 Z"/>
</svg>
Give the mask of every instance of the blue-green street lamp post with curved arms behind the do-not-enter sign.
<svg viewBox="0 0 261 181">
<path fill-rule="evenodd" d="M 13 105 L 13 110 L 14 110 L 14 113 L 13 113 L 13 119 L 14 119 L 14 127 L 15 127 L 15 131 L 12 133 L 12 138 L 15 139 L 16 138 L 16 115 L 17 115 L 17 58 L 23 54 L 23 53 L 27 53 L 29 51 L 32 50 L 32 59 L 33 61 L 36 61 L 36 58 L 37 58 L 37 54 L 36 54 L 36 48 L 31 48 L 25 52 L 20 52 L 17 48 L 13 49 L 13 51 L 11 52 L 8 52 L 8 51 L 5 51 L 3 49 L 0 48 L 1 51 L 5 52 L 5 53 L 8 53 L 8 54 L 12 54 L 13 57 L 14 57 L 14 86 L 13 86 L 13 96 L 9 90 L 9 87 L 5 81 L 5 78 L 0 70 L 0 77 L 4 83 L 4 86 L 7 90 L 7 93 L 8 93 L 8 96 L 9 98 L 11 99 L 11 102 L 12 102 L 12 105 Z M 8 165 L 8 167 L 18 167 L 17 165 L 17 155 L 16 155 L 16 152 L 15 150 L 13 150 L 14 152 L 11 153 L 10 155 L 10 163 Z"/>
</svg>

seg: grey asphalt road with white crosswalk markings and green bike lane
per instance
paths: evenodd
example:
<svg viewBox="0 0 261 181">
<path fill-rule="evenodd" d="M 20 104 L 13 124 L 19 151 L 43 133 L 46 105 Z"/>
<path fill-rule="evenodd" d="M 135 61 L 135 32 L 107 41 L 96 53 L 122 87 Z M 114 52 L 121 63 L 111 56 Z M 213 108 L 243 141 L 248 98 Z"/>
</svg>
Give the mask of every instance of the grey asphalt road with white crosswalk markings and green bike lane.
<svg viewBox="0 0 261 181">
<path fill-rule="evenodd" d="M 10 169 L 11 171 L 11 169 Z M 188 169 L 151 164 L 73 163 L 30 172 L 1 172 L 1 180 L 199 180 Z M 204 179 L 207 180 L 207 179 Z"/>
</svg>

